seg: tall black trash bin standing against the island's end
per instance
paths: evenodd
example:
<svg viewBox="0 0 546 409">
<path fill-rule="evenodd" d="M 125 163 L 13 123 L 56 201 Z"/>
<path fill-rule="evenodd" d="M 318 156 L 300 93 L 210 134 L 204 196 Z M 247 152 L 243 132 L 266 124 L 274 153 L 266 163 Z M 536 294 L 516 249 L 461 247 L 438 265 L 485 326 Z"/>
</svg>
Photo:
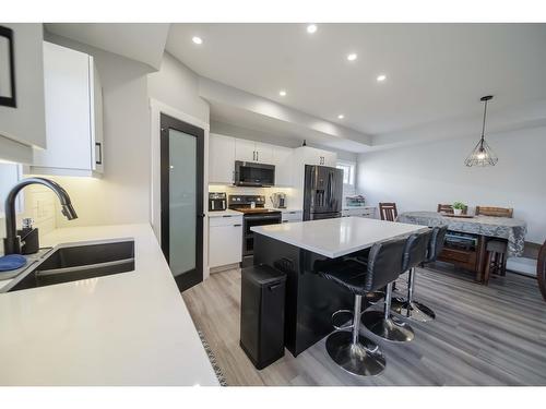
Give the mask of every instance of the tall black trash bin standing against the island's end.
<svg viewBox="0 0 546 409">
<path fill-rule="evenodd" d="M 286 275 L 266 265 L 242 269 L 240 346 L 259 370 L 284 356 Z"/>
</svg>

